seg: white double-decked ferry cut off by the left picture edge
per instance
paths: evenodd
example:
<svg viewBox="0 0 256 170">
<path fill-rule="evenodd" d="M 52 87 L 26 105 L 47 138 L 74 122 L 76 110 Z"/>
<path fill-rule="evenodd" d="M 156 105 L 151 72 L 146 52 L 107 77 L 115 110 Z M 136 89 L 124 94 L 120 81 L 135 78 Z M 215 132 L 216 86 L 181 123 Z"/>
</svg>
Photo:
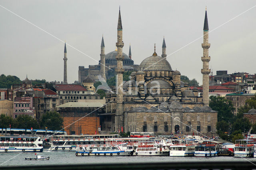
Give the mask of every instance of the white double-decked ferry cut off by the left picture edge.
<svg viewBox="0 0 256 170">
<path fill-rule="evenodd" d="M 0 152 L 43 152 L 40 137 L 0 136 Z"/>
</svg>

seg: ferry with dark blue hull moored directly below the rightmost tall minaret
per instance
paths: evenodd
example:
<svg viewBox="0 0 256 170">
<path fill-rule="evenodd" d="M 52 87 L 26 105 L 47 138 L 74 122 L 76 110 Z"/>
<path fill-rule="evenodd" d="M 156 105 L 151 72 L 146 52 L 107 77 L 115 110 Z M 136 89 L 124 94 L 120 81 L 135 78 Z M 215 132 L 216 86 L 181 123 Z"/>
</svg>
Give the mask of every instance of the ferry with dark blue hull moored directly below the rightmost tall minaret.
<svg viewBox="0 0 256 170">
<path fill-rule="evenodd" d="M 218 156 L 218 152 L 216 151 L 215 144 L 213 144 L 211 141 L 204 141 L 195 146 L 194 156 L 214 157 Z"/>
</svg>

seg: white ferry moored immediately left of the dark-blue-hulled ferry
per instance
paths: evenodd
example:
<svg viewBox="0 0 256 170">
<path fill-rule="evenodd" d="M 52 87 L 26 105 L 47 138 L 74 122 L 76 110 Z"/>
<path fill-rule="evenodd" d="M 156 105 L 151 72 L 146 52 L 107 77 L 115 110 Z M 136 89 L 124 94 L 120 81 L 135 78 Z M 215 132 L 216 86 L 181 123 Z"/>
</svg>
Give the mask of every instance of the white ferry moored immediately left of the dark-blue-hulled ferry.
<svg viewBox="0 0 256 170">
<path fill-rule="evenodd" d="M 170 145 L 170 156 L 194 156 L 194 140 L 185 140 L 185 144 Z"/>
</svg>

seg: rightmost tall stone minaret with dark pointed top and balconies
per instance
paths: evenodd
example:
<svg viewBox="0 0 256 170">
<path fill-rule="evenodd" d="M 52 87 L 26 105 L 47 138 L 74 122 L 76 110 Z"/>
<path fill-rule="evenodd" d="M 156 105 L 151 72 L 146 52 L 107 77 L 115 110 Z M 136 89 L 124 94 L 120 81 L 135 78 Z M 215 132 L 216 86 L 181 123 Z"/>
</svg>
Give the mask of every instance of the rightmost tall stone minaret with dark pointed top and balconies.
<svg viewBox="0 0 256 170">
<path fill-rule="evenodd" d="M 203 69 L 201 73 L 203 74 L 203 103 L 205 106 L 209 106 L 209 74 L 211 70 L 209 69 L 210 56 L 208 54 L 208 49 L 210 44 L 208 43 L 208 20 L 207 20 L 207 11 L 205 8 L 205 18 L 204 18 L 204 43 L 202 44 L 203 56 L 201 60 L 203 62 Z"/>
</svg>

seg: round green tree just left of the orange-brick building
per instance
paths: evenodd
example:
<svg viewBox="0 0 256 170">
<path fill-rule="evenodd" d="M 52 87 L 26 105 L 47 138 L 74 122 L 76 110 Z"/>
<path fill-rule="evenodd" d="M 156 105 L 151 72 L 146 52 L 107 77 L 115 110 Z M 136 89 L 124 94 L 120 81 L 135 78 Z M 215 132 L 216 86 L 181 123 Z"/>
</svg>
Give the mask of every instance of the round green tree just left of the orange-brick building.
<svg viewBox="0 0 256 170">
<path fill-rule="evenodd" d="M 63 118 L 56 111 L 46 112 L 40 119 L 40 127 L 47 127 L 48 130 L 61 130 L 63 125 Z"/>
</svg>

